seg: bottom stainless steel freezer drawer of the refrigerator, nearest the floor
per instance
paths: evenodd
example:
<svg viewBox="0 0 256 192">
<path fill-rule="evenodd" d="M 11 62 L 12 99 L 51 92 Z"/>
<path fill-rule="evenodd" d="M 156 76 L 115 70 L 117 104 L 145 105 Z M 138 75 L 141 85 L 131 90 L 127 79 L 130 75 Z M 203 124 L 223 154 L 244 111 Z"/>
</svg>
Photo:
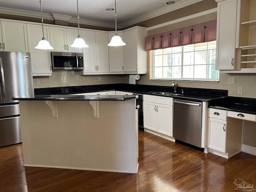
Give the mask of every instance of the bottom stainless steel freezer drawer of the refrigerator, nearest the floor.
<svg viewBox="0 0 256 192">
<path fill-rule="evenodd" d="M 0 119 L 0 147 L 20 142 L 20 117 Z"/>
</svg>

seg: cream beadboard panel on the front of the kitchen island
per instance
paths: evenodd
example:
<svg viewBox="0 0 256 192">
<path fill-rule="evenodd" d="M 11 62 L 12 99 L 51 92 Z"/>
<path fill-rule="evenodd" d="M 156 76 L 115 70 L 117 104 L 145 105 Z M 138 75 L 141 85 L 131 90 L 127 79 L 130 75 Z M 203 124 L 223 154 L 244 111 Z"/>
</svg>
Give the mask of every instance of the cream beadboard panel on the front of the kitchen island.
<svg viewBox="0 0 256 192">
<path fill-rule="evenodd" d="M 56 102 L 20 101 L 24 166 L 137 173 L 136 100 Z"/>
</svg>

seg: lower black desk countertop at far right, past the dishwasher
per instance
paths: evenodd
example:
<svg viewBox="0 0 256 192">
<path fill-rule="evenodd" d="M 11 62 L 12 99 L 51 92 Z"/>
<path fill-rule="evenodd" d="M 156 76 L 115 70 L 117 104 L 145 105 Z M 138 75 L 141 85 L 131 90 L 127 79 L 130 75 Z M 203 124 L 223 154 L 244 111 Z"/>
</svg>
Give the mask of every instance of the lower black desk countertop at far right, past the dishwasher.
<svg viewBox="0 0 256 192">
<path fill-rule="evenodd" d="M 256 99 L 254 98 L 226 97 L 210 101 L 208 107 L 256 115 Z"/>
</svg>

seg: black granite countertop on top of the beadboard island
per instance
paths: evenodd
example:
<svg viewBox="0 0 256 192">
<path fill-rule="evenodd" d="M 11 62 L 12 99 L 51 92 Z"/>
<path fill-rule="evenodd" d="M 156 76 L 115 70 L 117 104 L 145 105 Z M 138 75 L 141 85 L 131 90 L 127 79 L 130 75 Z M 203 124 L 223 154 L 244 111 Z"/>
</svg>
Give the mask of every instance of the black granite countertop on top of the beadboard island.
<svg viewBox="0 0 256 192">
<path fill-rule="evenodd" d="M 12 100 L 100 100 L 126 101 L 138 98 L 137 95 L 35 95 L 15 96 Z"/>
</svg>

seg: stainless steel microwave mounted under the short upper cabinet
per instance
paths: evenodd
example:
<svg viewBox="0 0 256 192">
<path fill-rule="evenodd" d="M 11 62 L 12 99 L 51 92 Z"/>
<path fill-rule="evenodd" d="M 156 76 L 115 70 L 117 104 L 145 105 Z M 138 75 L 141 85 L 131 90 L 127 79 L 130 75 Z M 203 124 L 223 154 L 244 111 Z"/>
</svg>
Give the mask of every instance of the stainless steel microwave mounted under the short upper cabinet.
<svg viewBox="0 0 256 192">
<path fill-rule="evenodd" d="M 51 52 L 52 70 L 83 70 L 82 53 Z"/>
</svg>

